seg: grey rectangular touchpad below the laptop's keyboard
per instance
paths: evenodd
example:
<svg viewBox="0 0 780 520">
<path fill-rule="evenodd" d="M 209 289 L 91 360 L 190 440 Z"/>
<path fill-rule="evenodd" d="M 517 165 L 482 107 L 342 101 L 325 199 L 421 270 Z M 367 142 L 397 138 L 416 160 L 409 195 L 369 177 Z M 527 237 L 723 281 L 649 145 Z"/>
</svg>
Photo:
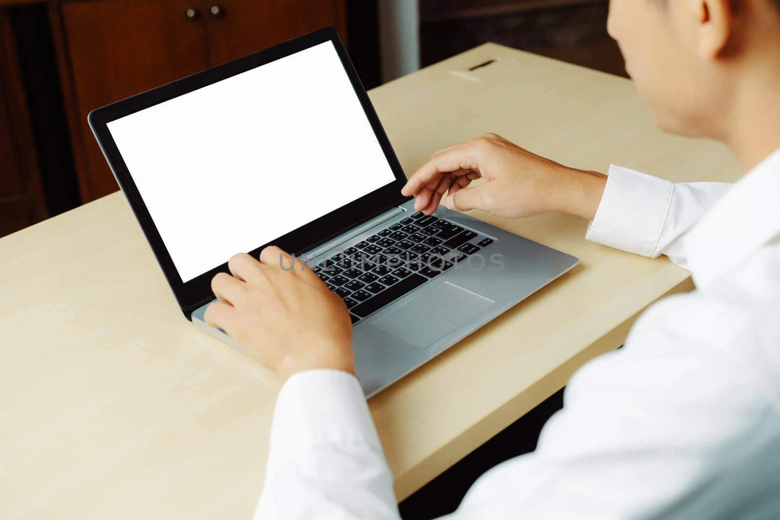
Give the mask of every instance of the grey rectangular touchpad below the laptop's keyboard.
<svg viewBox="0 0 780 520">
<path fill-rule="evenodd" d="M 371 325 L 410 345 L 426 348 L 494 304 L 491 299 L 445 281 Z"/>
</svg>

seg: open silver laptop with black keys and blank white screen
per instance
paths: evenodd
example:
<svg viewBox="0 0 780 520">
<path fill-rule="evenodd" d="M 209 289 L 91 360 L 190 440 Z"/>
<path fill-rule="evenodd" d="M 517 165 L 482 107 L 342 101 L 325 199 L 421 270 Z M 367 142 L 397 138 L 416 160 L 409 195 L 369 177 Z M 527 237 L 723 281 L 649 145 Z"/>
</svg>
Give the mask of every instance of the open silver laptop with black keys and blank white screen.
<svg viewBox="0 0 780 520">
<path fill-rule="evenodd" d="M 280 246 L 346 302 L 367 397 L 577 264 L 445 207 L 416 212 L 332 27 L 89 123 L 187 319 L 243 350 L 204 322 L 211 278 L 235 253 Z"/>
</svg>

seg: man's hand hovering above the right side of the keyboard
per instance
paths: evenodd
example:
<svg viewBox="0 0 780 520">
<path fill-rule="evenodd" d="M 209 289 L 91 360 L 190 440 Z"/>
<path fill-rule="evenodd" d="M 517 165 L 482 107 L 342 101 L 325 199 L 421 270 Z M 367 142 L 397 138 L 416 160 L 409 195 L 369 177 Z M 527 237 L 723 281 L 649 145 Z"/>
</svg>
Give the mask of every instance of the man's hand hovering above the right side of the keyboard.
<svg viewBox="0 0 780 520">
<path fill-rule="evenodd" d="M 468 187 L 475 179 L 479 186 Z M 451 210 L 484 210 L 521 218 L 565 211 L 593 220 L 606 175 L 567 168 L 488 133 L 443 148 L 406 182 L 401 193 L 415 196 L 414 209 L 431 214 L 449 190 Z"/>
</svg>

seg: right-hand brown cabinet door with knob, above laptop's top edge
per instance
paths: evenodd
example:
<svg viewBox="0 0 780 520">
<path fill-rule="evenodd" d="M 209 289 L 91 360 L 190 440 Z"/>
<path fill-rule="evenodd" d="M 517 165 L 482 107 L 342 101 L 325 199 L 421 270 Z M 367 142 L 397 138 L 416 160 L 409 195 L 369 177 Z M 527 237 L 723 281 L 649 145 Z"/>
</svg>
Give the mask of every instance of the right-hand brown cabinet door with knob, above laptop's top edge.
<svg viewBox="0 0 780 520">
<path fill-rule="evenodd" d="M 342 39 L 346 35 L 344 0 L 207 0 L 203 5 L 209 66 L 328 25 L 339 29 Z"/>
</svg>

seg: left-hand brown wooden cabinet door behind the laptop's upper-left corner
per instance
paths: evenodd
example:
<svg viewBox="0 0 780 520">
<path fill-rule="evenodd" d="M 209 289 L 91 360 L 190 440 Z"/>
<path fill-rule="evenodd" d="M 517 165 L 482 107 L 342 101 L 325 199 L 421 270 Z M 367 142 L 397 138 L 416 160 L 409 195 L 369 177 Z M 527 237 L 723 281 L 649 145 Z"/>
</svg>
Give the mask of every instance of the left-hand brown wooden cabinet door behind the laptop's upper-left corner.
<svg viewBox="0 0 780 520">
<path fill-rule="evenodd" d="M 84 202 L 118 189 L 87 123 L 90 110 L 206 68 L 204 13 L 188 17 L 188 7 L 182 0 L 62 3 L 55 23 L 67 45 L 66 103 L 76 119 L 70 126 Z"/>
</svg>

